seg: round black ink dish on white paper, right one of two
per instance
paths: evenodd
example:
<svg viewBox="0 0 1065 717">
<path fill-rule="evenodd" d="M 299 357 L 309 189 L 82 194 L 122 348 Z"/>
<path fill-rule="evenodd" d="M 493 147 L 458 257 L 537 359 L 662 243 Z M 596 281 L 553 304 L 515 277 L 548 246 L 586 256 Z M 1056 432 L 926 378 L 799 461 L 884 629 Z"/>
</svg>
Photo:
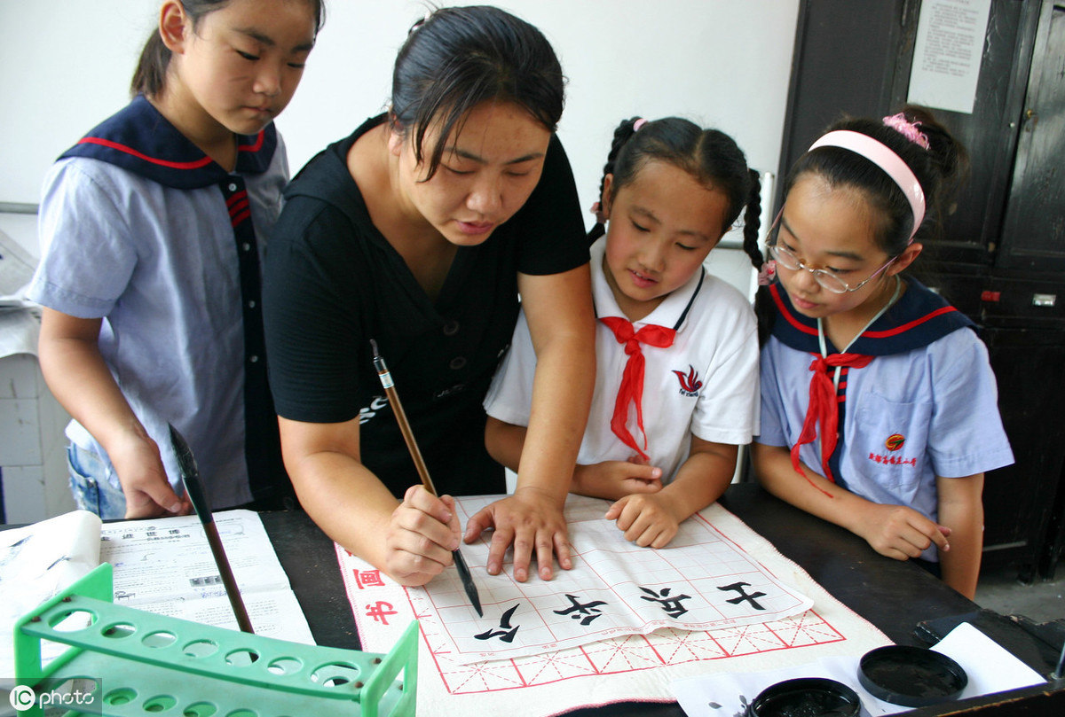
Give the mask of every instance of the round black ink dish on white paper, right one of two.
<svg viewBox="0 0 1065 717">
<path fill-rule="evenodd" d="M 885 702 L 924 707 L 956 700 L 969 678 L 961 665 L 940 652 L 888 645 L 862 656 L 858 682 Z"/>
</svg>

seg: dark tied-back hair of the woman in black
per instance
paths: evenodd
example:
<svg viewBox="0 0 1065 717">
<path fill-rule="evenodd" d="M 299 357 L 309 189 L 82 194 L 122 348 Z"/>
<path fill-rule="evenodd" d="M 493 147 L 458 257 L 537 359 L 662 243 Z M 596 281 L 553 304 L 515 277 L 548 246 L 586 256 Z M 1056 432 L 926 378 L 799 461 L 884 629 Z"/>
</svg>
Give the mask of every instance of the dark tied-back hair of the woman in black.
<svg viewBox="0 0 1065 717">
<path fill-rule="evenodd" d="M 390 122 L 413 136 L 421 163 L 430 127 L 440 130 L 426 179 L 440 165 L 452 130 L 481 102 L 512 102 L 550 132 L 562 116 L 566 79 L 539 30 L 498 7 L 441 7 L 411 28 L 392 72 Z"/>
</svg>

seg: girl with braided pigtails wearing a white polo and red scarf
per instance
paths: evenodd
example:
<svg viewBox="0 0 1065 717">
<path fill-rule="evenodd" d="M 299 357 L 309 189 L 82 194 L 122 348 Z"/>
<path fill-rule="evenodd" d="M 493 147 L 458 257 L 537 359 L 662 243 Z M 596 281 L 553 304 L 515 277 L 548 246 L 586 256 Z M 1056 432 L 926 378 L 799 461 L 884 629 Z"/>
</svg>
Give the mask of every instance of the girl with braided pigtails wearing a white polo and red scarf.
<svg viewBox="0 0 1065 717">
<path fill-rule="evenodd" d="M 571 491 L 613 500 L 606 517 L 626 539 L 663 548 L 724 493 L 737 447 L 758 431 L 754 314 L 703 268 L 744 210 L 757 254 L 758 174 L 722 132 L 634 118 L 615 132 L 600 194 L 595 389 Z M 489 452 L 510 468 L 523 458 L 535 369 L 520 317 L 485 400 Z"/>
</svg>

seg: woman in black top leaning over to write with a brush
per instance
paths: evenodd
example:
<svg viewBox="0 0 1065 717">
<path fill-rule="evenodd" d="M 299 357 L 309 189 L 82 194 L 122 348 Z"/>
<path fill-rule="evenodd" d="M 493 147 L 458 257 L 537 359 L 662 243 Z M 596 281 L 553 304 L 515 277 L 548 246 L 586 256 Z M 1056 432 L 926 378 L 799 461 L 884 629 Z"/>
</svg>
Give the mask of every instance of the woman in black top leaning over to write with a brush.
<svg viewBox="0 0 1065 717">
<path fill-rule="evenodd" d="M 411 30 L 389 111 L 293 181 L 266 262 L 271 384 L 285 467 L 335 541 L 405 585 L 450 565 L 453 499 L 421 487 L 374 369 L 387 357 L 441 494 L 498 494 L 481 400 L 519 309 L 538 368 L 518 486 L 474 515 L 488 571 L 513 547 L 571 567 L 562 505 L 594 383 L 588 248 L 555 136 L 563 77 L 532 26 L 446 7 Z"/>
</svg>

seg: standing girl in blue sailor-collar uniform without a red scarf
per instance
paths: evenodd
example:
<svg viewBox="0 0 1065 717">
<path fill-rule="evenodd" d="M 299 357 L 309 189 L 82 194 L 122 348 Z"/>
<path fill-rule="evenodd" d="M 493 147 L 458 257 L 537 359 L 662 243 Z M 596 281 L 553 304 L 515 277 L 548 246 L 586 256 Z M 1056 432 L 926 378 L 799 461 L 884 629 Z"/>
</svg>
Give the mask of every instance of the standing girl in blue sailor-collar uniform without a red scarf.
<svg viewBox="0 0 1065 717">
<path fill-rule="evenodd" d="M 187 513 L 167 423 L 215 508 L 291 496 L 260 260 L 289 179 L 273 120 L 320 0 L 166 0 L 133 101 L 55 163 L 40 205 L 39 354 L 73 417 L 70 482 L 103 518 Z"/>
</svg>

